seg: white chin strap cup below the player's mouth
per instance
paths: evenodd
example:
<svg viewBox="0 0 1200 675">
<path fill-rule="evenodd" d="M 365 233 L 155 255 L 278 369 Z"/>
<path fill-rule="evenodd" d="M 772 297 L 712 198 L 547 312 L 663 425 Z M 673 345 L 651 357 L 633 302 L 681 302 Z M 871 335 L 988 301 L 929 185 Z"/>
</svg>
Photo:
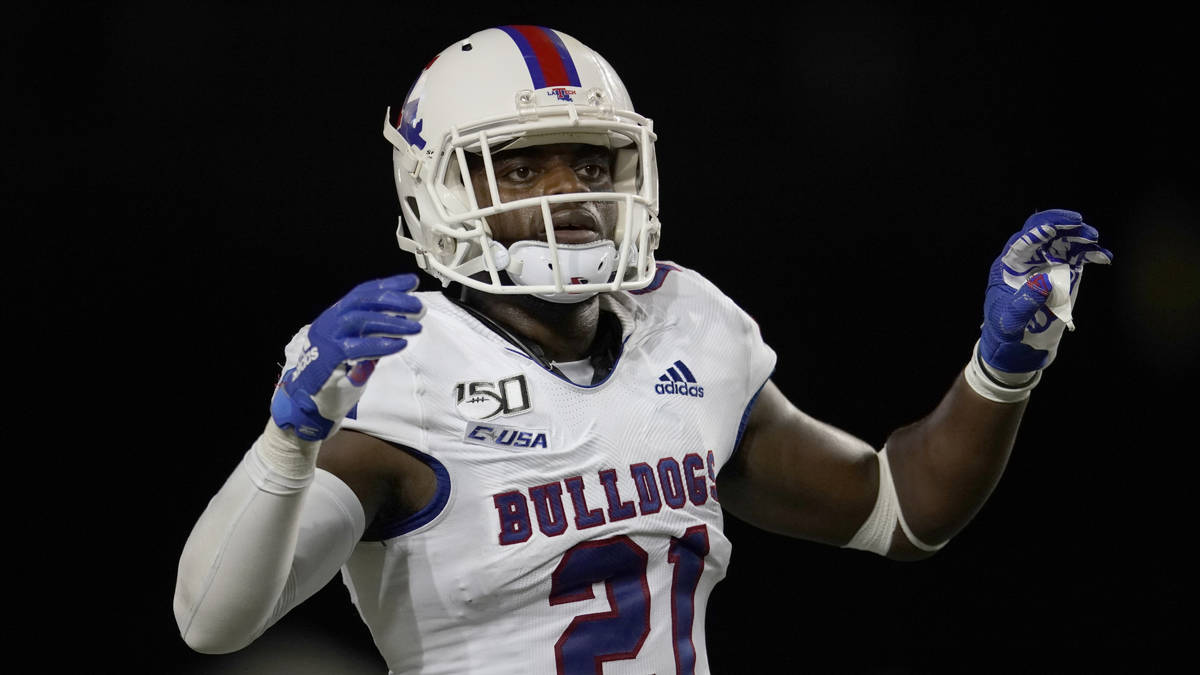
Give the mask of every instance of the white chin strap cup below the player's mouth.
<svg viewBox="0 0 1200 675">
<path fill-rule="evenodd" d="M 554 285 L 554 256 L 548 243 L 517 241 L 509 246 L 505 257 L 508 264 L 504 268 L 517 286 Z M 617 245 L 607 239 L 588 244 L 559 244 L 558 261 L 564 285 L 606 283 L 612 280 L 617 265 Z M 593 295 L 595 292 L 534 293 L 535 298 L 563 304 L 581 303 Z"/>
</svg>

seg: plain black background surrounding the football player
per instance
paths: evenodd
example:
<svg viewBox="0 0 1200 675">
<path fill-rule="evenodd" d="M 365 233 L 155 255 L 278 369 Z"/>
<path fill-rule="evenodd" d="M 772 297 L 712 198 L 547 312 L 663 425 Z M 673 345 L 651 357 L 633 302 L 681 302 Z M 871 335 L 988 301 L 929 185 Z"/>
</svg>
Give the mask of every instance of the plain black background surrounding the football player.
<svg viewBox="0 0 1200 675">
<path fill-rule="evenodd" d="M 1115 252 L 1087 269 L 1006 477 L 944 551 L 895 563 L 731 519 L 714 670 L 1166 663 L 1189 637 L 1200 333 L 1187 22 L 1144 4 L 563 5 L 10 10 L 12 327 L 20 363 L 55 372 L 38 442 L 14 453 L 34 459 L 24 567 L 53 591 L 28 625 L 49 662 L 385 671 L 338 581 L 244 652 L 192 653 L 175 565 L 265 423 L 292 333 L 414 269 L 385 107 L 451 42 L 535 23 L 605 54 L 654 118 L 659 259 L 721 286 L 779 352 L 782 390 L 872 444 L 958 375 L 988 265 L 1031 213 L 1079 210 Z"/>
</svg>

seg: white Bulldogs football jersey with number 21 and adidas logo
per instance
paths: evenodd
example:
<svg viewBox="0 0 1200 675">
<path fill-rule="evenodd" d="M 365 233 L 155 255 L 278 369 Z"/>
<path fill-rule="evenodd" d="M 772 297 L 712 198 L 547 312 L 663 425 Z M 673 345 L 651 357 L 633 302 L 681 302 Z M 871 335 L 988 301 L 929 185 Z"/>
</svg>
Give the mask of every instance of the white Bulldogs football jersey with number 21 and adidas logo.
<svg viewBox="0 0 1200 675">
<path fill-rule="evenodd" d="M 644 291 L 601 297 L 624 342 L 607 377 L 576 384 L 418 295 L 421 334 L 343 424 L 438 477 L 342 569 L 391 671 L 708 673 L 704 611 L 730 560 L 715 478 L 775 364 L 757 324 L 660 263 Z"/>
</svg>

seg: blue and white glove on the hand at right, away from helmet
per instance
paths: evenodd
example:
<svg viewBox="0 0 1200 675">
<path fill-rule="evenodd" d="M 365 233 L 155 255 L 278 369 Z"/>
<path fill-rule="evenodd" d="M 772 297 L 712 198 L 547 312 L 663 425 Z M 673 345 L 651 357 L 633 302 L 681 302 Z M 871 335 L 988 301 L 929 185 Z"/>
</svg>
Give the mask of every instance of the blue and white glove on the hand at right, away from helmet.
<svg viewBox="0 0 1200 675">
<path fill-rule="evenodd" d="M 1025 221 L 991 263 L 984 297 L 979 356 L 995 370 L 1032 374 L 1050 365 L 1079 293 L 1086 263 L 1109 264 L 1112 253 L 1084 217 L 1063 209 Z"/>
</svg>

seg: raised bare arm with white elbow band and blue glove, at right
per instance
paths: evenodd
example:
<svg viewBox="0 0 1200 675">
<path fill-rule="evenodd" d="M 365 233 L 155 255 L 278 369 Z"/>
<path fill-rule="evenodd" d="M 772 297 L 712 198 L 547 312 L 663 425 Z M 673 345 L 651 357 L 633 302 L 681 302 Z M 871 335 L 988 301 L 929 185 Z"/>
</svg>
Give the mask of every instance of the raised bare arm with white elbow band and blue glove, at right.
<svg viewBox="0 0 1200 675">
<path fill-rule="evenodd" d="M 901 560 L 931 555 L 1000 479 L 1030 392 L 1063 328 L 1074 328 L 1084 265 L 1111 259 L 1080 214 L 1033 214 L 992 262 L 979 341 L 934 412 L 876 454 L 768 383 L 721 473 L 722 506 L 794 537 Z"/>
</svg>

